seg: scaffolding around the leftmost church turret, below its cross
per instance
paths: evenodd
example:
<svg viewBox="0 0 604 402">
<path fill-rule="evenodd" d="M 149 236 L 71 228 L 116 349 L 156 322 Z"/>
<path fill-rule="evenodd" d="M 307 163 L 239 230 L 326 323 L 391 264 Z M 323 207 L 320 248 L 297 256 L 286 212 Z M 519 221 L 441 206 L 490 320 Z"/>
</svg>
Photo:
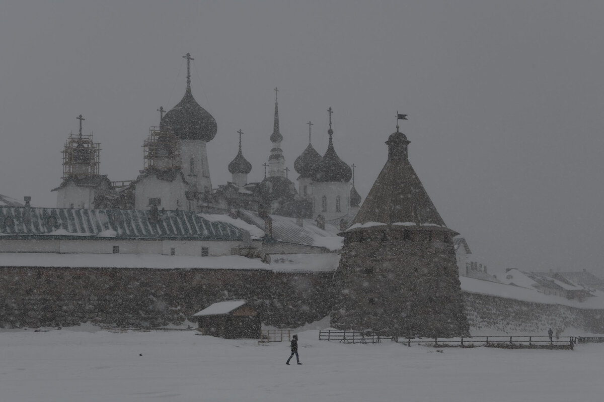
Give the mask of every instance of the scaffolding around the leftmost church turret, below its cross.
<svg viewBox="0 0 604 402">
<path fill-rule="evenodd" d="M 73 132 L 63 148 L 63 180 L 72 177 L 91 177 L 98 175 L 100 144 L 89 136 Z"/>
</svg>

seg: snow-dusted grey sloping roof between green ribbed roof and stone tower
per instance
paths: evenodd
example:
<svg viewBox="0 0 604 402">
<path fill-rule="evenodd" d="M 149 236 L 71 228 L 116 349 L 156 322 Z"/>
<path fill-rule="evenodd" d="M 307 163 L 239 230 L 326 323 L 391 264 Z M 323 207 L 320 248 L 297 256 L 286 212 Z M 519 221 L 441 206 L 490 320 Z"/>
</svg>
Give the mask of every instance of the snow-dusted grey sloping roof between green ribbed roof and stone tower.
<svg viewBox="0 0 604 402">
<path fill-rule="evenodd" d="M 256 227 L 264 228 L 265 221 L 257 212 L 249 210 L 239 211 L 241 218 L 254 224 Z M 303 219 L 303 225 L 297 224 L 296 218 L 288 216 L 269 215 L 272 219 L 272 238 L 278 242 L 304 244 L 315 247 L 326 247 L 329 250 L 339 250 L 341 240 L 334 239 L 339 233 L 339 228 L 326 224 L 325 229 L 316 226 L 312 219 Z M 327 240 L 325 238 L 331 238 Z M 338 247 L 338 248 L 335 248 Z"/>
</svg>

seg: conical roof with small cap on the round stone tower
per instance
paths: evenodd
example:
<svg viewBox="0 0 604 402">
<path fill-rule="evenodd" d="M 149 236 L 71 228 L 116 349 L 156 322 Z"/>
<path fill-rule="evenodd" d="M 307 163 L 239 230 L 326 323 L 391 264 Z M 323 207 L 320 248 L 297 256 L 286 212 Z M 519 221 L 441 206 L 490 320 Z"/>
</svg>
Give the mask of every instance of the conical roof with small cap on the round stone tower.
<svg viewBox="0 0 604 402">
<path fill-rule="evenodd" d="M 352 224 L 411 222 L 446 227 L 422 182 L 409 163 L 403 133 L 388 137 L 388 160 Z"/>
</svg>

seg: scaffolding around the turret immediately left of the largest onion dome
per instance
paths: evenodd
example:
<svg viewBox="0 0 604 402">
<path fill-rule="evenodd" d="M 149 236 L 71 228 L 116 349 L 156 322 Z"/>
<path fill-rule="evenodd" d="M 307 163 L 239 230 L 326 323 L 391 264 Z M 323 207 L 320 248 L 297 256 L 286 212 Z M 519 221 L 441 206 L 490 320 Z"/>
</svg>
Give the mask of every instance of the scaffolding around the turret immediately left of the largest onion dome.
<svg viewBox="0 0 604 402">
<path fill-rule="evenodd" d="M 144 169 L 181 168 L 180 141 L 172 131 L 150 127 L 143 149 Z"/>
</svg>

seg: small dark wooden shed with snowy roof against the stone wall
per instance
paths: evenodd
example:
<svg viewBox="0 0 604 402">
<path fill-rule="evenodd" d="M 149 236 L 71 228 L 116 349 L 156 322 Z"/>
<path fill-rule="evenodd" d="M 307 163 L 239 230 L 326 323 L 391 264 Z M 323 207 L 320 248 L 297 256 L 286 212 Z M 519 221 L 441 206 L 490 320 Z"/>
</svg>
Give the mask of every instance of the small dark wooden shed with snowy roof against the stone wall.
<svg viewBox="0 0 604 402">
<path fill-rule="evenodd" d="M 214 303 L 193 314 L 198 318 L 198 330 L 204 335 L 226 339 L 260 339 L 262 323 L 258 312 L 245 300 Z"/>
</svg>

